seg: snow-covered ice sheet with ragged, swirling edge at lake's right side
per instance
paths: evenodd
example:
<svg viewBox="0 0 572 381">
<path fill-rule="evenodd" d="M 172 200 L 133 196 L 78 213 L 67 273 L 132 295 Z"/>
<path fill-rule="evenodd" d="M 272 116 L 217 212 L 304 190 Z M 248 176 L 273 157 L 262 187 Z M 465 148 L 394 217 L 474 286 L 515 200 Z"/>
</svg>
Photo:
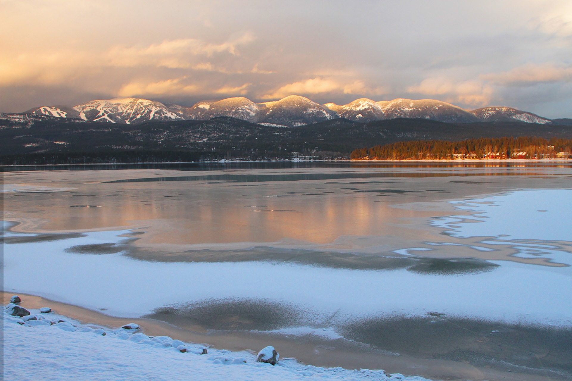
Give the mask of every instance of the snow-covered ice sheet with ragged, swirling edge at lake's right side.
<svg viewBox="0 0 572 381">
<path fill-rule="evenodd" d="M 519 258 L 572 266 L 572 190 L 518 190 L 451 203 L 475 213 L 435 219 L 433 224 L 447 228 L 447 234 L 490 237 L 482 242 L 510 245 Z"/>
</svg>

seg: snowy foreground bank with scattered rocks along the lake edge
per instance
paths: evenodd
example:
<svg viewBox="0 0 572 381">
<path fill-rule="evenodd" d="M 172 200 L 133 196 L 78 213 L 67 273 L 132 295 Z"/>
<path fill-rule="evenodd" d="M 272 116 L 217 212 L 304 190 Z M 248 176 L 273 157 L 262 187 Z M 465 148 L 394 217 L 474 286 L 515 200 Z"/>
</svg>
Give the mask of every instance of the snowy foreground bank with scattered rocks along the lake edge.
<svg viewBox="0 0 572 381">
<path fill-rule="evenodd" d="M 30 310 L 37 320 L 3 316 L 6 380 L 379 380 L 424 381 L 419 376 L 383 371 L 306 366 L 293 359 L 276 366 L 256 362 L 250 352 L 230 352 L 184 344 L 169 336 L 149 337 L 136 330 L 104 329 L 66 316 Z M 57 329 L 72 327 L 73 331 Z M 267 347 L 265 348 L 272 348 Z M 272 348 L 273 350 L 274 348 Z M 272 352 L 271 350 L 271 352 Z"/>
</svg>

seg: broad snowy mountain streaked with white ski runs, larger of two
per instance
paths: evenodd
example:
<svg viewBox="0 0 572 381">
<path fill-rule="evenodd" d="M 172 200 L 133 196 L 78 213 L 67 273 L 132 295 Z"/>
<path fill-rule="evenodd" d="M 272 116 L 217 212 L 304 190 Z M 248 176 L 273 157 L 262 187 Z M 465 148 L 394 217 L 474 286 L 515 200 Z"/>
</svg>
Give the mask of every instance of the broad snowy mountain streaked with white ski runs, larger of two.
<svg viewBox="0 0 572 381">
<path fill-rule="evenodd" d="M 141 123 L 150 120 L 180 121 L 184 118 L 177 111 L 161 102 L 139 98 L 98 99 L 75 106 L 85 121 L 112 123 Z"/>
</svg>

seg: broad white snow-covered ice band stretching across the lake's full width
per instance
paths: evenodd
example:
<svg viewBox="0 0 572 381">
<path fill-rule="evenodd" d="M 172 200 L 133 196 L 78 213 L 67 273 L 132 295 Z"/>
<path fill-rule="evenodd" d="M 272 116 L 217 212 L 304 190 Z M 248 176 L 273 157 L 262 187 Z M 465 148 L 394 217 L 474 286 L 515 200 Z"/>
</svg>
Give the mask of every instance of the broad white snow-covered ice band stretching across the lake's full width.
<svg viewBox="0 0 572 381">
<path fill-rule="evenodd" d="M 118 235 L 125 233 L 92 232 L 51 242 L 6 244 L 4 290 L 93 310 L 106 308 L 106 314 L 125 317 L 177 303 L 251 298 L 294 304 L 318 317 L 339 311 L 340 320 L 439 311 L 572 325 L 570 267 L 503 262 L 489 272 L 443 276 L 404 269 L 347 270 L 269 262 L 146 262 L 121 253 L 65 251 L 80 244 L 119 242 L 125 237 Z"/>
</svg>

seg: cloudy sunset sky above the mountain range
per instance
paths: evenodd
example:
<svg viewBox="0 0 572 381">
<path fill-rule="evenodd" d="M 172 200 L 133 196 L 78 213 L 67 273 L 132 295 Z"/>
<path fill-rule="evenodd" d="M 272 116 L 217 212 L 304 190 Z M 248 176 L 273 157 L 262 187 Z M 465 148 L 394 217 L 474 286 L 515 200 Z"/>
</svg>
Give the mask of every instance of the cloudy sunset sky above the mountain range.
<svg viewBox="0 0 572 381">
<path fill-rule="evenodd" d="M 0 111 L 439 99 L 572 118 L 570 0 L 0 0 Z"/>
</svg>

